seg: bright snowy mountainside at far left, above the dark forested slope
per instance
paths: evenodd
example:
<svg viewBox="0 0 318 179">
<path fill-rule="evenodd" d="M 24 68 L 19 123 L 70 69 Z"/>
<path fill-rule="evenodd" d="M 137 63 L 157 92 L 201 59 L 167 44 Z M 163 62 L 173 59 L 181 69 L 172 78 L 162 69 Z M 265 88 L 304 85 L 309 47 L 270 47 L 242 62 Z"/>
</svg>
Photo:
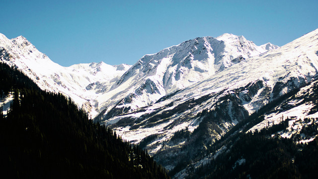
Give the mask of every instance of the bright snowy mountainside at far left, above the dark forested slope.
<svg viewBox="0 0 318 179">
<path fill-rule="evenodd" d="M 0 34 L 0 59 L 16 66 L 41 89 L 70 96 L 92 117 L 98 113 L 96 97 L 130 68 L 127 64 L 111 66 L 103 62 L 62 67 L 24 37 L 9 40 L 3 34 Z"/>
</svg>

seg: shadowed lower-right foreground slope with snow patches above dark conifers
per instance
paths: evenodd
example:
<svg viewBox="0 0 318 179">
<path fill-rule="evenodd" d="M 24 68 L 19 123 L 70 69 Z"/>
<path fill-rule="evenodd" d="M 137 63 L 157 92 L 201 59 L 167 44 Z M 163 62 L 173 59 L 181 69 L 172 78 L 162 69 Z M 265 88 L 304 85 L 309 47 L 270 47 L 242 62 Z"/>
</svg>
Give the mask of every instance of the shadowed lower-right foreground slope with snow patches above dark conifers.
<svg viewBox="0 0 318 179">
<path fill-rule="evenodd" d="M 277 176 L 278 173 L 290 175 L 296 172 L 297 175 L 302 175 L 304 178 L 315 178 L 313 174 L 317 171 L 313 164 L 318 161 L 318 158 L 313 156 L 318 151 L 316 145 L 318 137 L 317 92 L 318 80 L 315 80 L 300 89 L 294 89 L 276 98 L 234 126 L 221 139 L 208 147 L 206 154 L 203 154 L 200 159 L 189 163 L 181 163 L 170 174 L 178 179 L 200 178 L 199 176 L 202 178 L 202 176 L 207 175 L 212 175 L 214 178 L 216 176 L 234 175 L 237 177 L 228 176 L 224 178 L 238 178 L 239 174 L 237 172 L 241 172 L 240 175 L 242 175 L 242 171 L 244 171 L 243 176 L 249 174 L 258 178 L 256 177 L 258 175 Z M 251 132 L 254 134 L 251 135 Z M 245 135 L 246 133 L 247 135 Z M 276 144 L 280 143 L 280 145 L 265 144 L 264 138 L 266 138 L 266 142 L 275 141 Z M 309 146 L 303 145 L 315 140 L 316 142 Z M 285 146 L 285 142 L 289 143 L 288 147 Z M 298 152 L 294 150 L 290 153 L 291 151 L 288 150 L 292 148 L 297 148 Z M 303 148 L 307 149 L 300 152 Z M 273 153 L 273 151 L 276 152 Z M 286 156 L 279 157 L 284 153 L 288 155 L 287 158 Z M 279 156 L 276 156 L 277 154 Z M 263 157 L 265 155 L 267 157 Z M 302 155 L 306 156 L 307 159 L 300 157 L 295 160 L 295 156 Z M 268 160 L 276 157 L 278 158 L 274 161 Z M 264 168 L 260 166 L 265 163 L 269 163 L 266 164 L 266 170 L 270 169 L 276 172 L 264 170 L 255 172 Z M 273 167 L 275 166 L 274 163 L 276 163 L 276 167 Z M 223 166 L 222 169 L 219 168 L 220 166 Z M 239 169 L 234 170 L 236 166 Z M 215 170 L 216 168 L 219 169 Z M 224 170 L 227 170 L 227 172 Z M 291 175 L 291 177 L 294 176 L 295 173 Z"/>
</svg>

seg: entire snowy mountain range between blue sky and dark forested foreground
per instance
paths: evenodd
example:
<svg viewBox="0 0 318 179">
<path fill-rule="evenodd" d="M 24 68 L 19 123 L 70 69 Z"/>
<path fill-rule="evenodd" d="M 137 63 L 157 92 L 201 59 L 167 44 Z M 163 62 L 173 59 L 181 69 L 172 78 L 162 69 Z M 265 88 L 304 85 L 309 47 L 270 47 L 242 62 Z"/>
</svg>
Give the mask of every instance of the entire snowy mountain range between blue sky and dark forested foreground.
<svg viewBox="0 0 318 179">
<path fill-rule="evenodd" d="M 282 47 L 223 34 L 145 55 L 133 66 L 70 67 L 52 62 L 22 36 L 0 34 L 0 59 L 41 89 L 71 97 L 94 122 L 147 149 L 175 178 L 212 160 L 211 147 L 242 123 L 255 131 L 286 117 L 318 117 L 318 29 Z M 266 106 L 263 120 L 251 125 L 250 116 Z M 301 126 L 280 136 L 299 134 Z"/>
</svg>

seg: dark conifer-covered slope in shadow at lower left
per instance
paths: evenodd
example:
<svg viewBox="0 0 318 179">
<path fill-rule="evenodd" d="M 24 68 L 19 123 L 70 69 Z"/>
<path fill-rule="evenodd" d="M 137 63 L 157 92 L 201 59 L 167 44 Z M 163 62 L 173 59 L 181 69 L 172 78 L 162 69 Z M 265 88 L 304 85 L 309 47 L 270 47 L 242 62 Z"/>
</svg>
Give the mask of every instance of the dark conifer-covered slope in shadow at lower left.
<svg viewBox="0 0 318 179">
<path fill-rule="evenodd" d="M 168 178 L 147 151 L 94 124 L 70 98 L 0 63 L 0 97 L 9 92 L 11 107 L 0 115 L 1 178 Z"/>
</svg>

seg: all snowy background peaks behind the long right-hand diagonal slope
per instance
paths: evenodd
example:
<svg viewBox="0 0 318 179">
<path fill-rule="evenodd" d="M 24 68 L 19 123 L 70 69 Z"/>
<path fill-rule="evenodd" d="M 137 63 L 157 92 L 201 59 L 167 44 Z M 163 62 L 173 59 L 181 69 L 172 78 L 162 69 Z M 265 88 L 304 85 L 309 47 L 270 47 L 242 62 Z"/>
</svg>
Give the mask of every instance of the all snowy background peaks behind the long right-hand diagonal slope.
<svg viewBox="0 0 318 179">
<path fill-rule="evenodd" d="M 21 69 L 40 88 L 70 96 L 92 117 L 100 111 L 116 111 L 116 115 L 131 112 L 277 47 L 270 43 L 256 46 L 243 36 L 223 34 L 145 55 L 132 67 L 103 62 L 62 67 L 24 37 L 9 40 L 0 34 L 2 61 Z"/>
</svg>

